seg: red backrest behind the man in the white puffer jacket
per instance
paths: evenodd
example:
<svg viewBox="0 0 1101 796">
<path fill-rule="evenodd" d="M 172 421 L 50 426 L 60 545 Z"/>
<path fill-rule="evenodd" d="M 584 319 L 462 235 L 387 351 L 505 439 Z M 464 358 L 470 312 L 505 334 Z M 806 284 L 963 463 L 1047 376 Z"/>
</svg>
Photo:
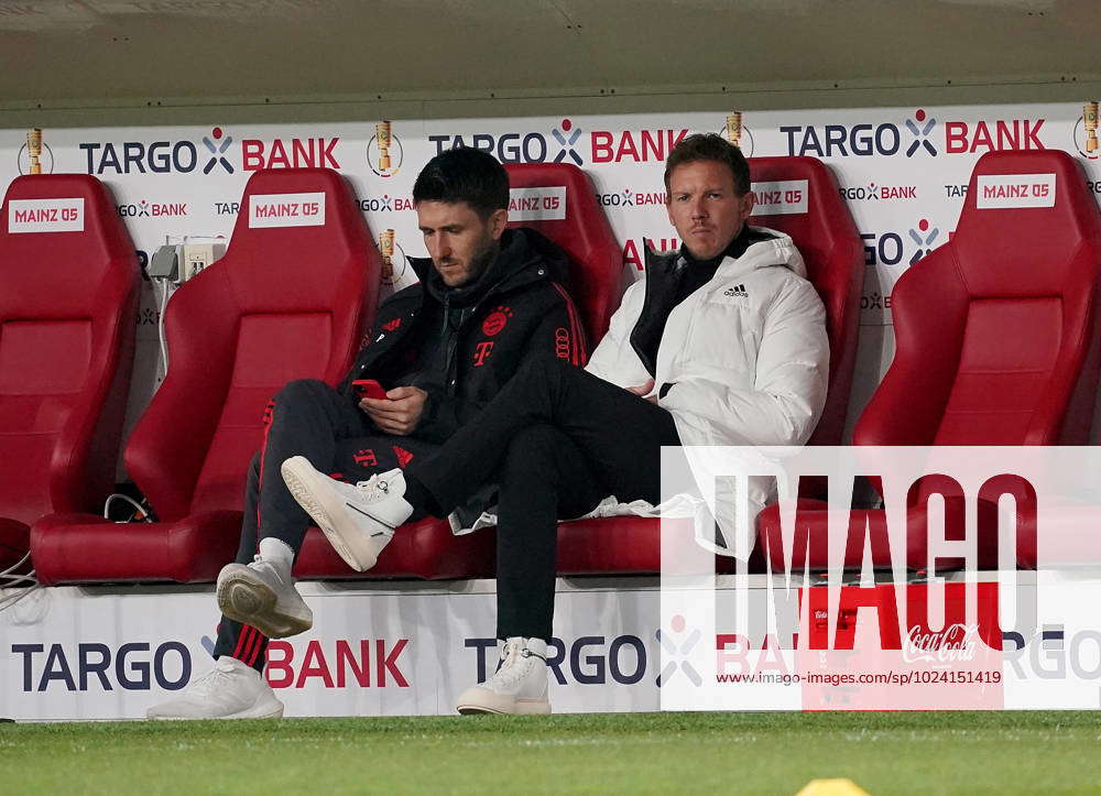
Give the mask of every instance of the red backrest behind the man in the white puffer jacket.
<svg viewBox="0 0 1101 796">
<path fill-rule="evenodd" d="M 829 390 L 810 445 L 840 445 L 857 361 L 864 250 L 830 170 L 816 157 L 750 157 L 750 223 L 792 236 L 826 306 Z"/>
</svg>

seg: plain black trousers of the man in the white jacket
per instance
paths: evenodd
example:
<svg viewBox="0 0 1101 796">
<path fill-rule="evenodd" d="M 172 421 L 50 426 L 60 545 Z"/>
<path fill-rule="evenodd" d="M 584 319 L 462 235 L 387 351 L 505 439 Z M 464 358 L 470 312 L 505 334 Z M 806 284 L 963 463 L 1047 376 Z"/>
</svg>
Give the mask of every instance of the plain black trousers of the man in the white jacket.
<svg viewBox="0 0 1101 796">
<path fill-rule="evenodd" d="M 667 411 L 537 358 L 442 448 L 406 468 L 406 497 L 415 510 L 446 515 L 495 478 L 497 634 L 549 640 L 557 521 L 609 494 L 657 503 L 662 446 L 679 444 Z"/>
</svg>

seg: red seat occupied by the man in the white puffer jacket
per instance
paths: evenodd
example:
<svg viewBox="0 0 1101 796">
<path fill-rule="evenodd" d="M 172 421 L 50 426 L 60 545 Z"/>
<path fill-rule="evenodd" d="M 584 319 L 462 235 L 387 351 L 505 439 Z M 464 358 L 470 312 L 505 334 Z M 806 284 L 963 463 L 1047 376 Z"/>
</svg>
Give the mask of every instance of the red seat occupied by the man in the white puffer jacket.
<svg viewBox="0 0 1101 796">
<path fill-rule="evenodd" d="M 811 445 L 838 445 L 852 384 L 863 277 L 860 236 L 837 181 L 815 157 L 750 159 L 759 205 L 750 222 L 787 232 L 807 263 L 826 305 L 830 344 L 829 391 Z M 804 185 L 805 182 L 805 185 Z M 778 192 L 773 200 L 766 196 Z M 792 193 L 796 192 L 796 193 Z M 804 200 L 806 206 L 804 207 Z M 690 537 L 686 534 L 686 543 Z M 720 561 L 726 569 L 730 560 Z M 661 521 L 618 516 L 578 520 L 558 527 L 562 575 L 661 571 Z"/>
</svg>

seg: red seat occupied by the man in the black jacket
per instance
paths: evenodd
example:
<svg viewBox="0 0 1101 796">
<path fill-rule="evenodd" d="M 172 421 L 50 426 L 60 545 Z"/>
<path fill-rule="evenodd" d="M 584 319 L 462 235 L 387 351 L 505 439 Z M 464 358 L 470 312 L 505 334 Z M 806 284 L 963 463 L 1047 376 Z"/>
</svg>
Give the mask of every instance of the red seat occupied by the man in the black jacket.
<svg viewBox="0 0 1101 796">
<path fill-rule="evenodd" d="M 575 271 L 567 286 L 585 318 L 590 340 L 599 339 L 619 299 L 623 259 L 592 184 L 580 168 L 565 163 L 508 164 L 505 168 L 515 205 L 510 226 L 532 227 L 569 254 Z M 492 528 L 456 536 L 446 521 L 427 517 L 402 528 L 369 576 L 491 577 L 494 549 Z M 316 528 L 306 535 L 295 574 L 299 578 L 363 577 L 337 556 Z"/>
</svg>

